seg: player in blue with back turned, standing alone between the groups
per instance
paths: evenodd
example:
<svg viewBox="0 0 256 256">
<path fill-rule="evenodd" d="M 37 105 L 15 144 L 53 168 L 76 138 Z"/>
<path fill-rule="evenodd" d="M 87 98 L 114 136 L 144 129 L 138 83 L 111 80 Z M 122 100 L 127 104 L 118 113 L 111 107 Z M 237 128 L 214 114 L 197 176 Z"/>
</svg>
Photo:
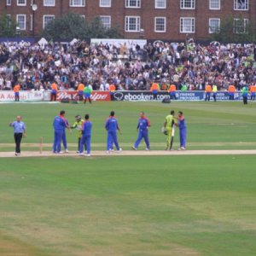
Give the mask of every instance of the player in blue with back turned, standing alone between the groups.
<svg viewBox="0 0 256 256">
<path fill-rule="evenodd" d="M 113 143 L 117 150 L 121 151 L 122 148 L 119 148 L 119 143 L 117 139 L 117 131 L 120 133 L 118 120 L 114 117 L 114 111 L 110 112 L 110 116 L 105 123 L 105 128 L 108 131 L 108 140 L 107 140 L 107 153 L 113 148 Z"/>
</svg>

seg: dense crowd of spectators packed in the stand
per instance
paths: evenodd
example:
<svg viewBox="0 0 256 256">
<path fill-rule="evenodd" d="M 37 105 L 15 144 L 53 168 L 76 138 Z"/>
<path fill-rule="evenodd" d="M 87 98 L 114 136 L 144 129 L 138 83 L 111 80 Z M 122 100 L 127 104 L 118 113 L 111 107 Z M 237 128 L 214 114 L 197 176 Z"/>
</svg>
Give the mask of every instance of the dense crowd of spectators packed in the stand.
<svg viewBox="0 0 256 256">
<path fill-rule="evenodd" d="M 0 44 L 0 89 L 48 90 L 55 81 L 59 90 L 76 90 L 80 82 L 93 90 L 149 90 L 153 82 L 166 90 L 205 90 L 216 84 L 226 90 L 234 84 L 256 83 L 256 48 L 253 44 L 208 45 L 156 42 L 145 44 Z"/>
</svg>

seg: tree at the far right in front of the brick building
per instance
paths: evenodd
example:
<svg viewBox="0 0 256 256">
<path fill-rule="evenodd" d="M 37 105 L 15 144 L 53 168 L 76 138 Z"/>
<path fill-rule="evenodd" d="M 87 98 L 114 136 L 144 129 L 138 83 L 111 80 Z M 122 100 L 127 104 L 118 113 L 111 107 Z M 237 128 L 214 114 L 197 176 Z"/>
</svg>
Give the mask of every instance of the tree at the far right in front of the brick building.
<svg viewBox="0 0 256 256">
<path fill-rule="evenodd" d="M 210 39 L 224 43 L 249 43 L 255 42 L 255 26 L 242 16 L 234 19 L 229 15 L 221 20 L 218 30 L 211 34 Z"/>
</svg>

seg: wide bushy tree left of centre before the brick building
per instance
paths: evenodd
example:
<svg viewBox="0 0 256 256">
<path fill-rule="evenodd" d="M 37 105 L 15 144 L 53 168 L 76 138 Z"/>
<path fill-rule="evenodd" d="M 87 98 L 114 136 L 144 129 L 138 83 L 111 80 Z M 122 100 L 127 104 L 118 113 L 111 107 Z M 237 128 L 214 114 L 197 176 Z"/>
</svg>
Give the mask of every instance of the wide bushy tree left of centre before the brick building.
<svg viewBox="0 0 256 256">
<path fill-rule="evenodd" d="M 121 37 L 117 28 L 106 28 L 99 17 L 88 22 L 80 15 L 74 13 L 68 13 L 55 20 L 51 20 L 44 28 L 42 36 L 48 40 Z"/>
</svg>

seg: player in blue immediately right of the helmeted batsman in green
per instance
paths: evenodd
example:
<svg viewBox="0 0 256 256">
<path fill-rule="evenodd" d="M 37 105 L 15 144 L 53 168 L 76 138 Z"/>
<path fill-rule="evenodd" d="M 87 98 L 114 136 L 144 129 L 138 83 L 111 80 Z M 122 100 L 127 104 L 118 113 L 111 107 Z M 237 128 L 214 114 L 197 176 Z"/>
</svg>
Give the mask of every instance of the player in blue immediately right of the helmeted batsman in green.
<svg viewBox="0 0 256 256">
<path fill-rule="evenodd" d="M 79 155 L 84 155 L 84 145 L 86 148 L 86 156 L 90 156 L 90 138 L 91 138 L 91 127 L 92 123 L 89 120 L 89 114 L 86 113 L 84 116 L 84 123 L 82 125 L 82 138 L 80 143 Z"/>
</svg>

